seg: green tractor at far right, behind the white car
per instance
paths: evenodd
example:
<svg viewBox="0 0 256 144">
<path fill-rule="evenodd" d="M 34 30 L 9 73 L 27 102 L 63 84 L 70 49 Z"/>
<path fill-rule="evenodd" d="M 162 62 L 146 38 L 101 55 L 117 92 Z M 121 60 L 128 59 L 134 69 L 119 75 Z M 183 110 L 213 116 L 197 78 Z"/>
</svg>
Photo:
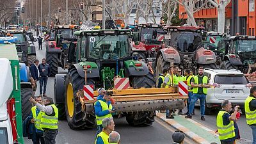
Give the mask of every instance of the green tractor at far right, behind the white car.
<svg viewBox="0 0 256 144">
<path fill-rule="evenodd" d="M 256 63 L 255 36 L 230 36 L 225 42 L 225 53 L 221 69 L 238 69 L 247 73 L 248 65 Z"/>
</svg>

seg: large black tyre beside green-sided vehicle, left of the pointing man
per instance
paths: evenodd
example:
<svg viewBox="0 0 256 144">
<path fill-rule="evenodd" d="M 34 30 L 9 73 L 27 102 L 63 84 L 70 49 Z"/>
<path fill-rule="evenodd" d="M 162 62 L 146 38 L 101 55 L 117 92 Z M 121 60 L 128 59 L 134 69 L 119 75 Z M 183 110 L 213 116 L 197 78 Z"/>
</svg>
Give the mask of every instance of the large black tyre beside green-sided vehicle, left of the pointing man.
<svg viewBox="0 0 256 144">
<path fill-rule="evenodd" d="M 31 88 L 21 88 L 21 109 L 22 109 L 22 121 L 25 120 L 31 112 L 32 104 L 29 102 L 29 97 L 33 95 Z"/>
</svg>

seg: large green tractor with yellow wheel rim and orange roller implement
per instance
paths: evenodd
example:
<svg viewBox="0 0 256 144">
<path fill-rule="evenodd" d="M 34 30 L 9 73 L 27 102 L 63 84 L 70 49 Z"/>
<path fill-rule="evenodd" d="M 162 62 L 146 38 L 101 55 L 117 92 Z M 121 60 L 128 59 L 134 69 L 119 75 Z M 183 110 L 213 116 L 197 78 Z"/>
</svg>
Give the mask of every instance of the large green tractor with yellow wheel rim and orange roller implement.
<svg viewBox="0 0 256 144">
<path fill-rule="evenodd" d="M 184 101 L 182 103 L 178 100 L 178 104 L 176 100 L 167 100 L 171 97 L 162 97 L 163 93 L 169 95 L 173 92 L 172 88 L 164 90 L 154 88 L 156 80 L 149 72 L 147 64 L 138 61 L 138 56 L 131 54 L 131 30 L 93 29 L 76 31 L 75 35 L 77 45 L 70 43 L 68 49 L 70 68 L 67 74 L 56 74 L 54 84 L 59 118 L 67 118 L 71 129 L 95 126 L 93 113 L 95 101 L 83 102 L 83 98 L 79 98 L 79 92 L 83 92 L 84 84 L 92 86 L 93 90 L 102 87 L 112 90 L 113 99 L 116 100 L 116 104 L 113 105 L 116 112 L 126 116 L 127 122 L 131 125 L 151 125 L 154 122 L 155 111 L 166 108 L 172 102 L 175 103 L 172 105 L 174 107 L 184 106 Z M 58 45 L 61 44 L 62 36 L 58 35 Z M 133 39 L 138 42 L 138 33 L 134 33 Z M 114 82 L 116 77 L 129 79 L 128 84 L 131 88 L 113 90 L 116 86 Z M 154 97 L 152 93 L 162 93 L 162 95 Z M 124 97 L 120 97 L 121 95 Z M 95 97 L 97 91 L 94 92 Z"/>
</svg>

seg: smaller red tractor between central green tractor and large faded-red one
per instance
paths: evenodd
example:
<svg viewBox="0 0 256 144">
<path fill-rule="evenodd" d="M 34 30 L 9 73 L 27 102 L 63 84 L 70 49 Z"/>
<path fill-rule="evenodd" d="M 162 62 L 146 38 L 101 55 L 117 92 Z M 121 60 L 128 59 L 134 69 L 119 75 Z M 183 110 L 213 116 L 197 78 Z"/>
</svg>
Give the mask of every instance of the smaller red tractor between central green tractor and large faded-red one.
<svg viewBox="0 0 256 144">
<path fill-rule="evenodd" d="M 132 42 L 132 52 L 138 52 L 143 59 L 156 58 L 156 53 L 162 48 L 164 30 L 162 24 L 139 24 L 138 33 L 140 42 Z M 134 54 L 132 54 L 134 55 Z"/>
</svg>

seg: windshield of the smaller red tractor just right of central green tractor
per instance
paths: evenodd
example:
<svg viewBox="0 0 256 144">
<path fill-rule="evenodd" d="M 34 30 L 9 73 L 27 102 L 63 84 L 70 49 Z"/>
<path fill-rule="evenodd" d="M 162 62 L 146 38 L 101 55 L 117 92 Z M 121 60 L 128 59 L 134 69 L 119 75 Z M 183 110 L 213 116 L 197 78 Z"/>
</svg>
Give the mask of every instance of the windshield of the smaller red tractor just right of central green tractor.
<svg viewBox="0 0 256 144">
<path fill-rule="evenodd" d="M 142 28 L 141 29 L 141 42 L 145 44 L 161 44 L 161 41 L 157 41 L 157 38 L 164 36 L 163 29 L 159 28 Z"/>
</svg>

